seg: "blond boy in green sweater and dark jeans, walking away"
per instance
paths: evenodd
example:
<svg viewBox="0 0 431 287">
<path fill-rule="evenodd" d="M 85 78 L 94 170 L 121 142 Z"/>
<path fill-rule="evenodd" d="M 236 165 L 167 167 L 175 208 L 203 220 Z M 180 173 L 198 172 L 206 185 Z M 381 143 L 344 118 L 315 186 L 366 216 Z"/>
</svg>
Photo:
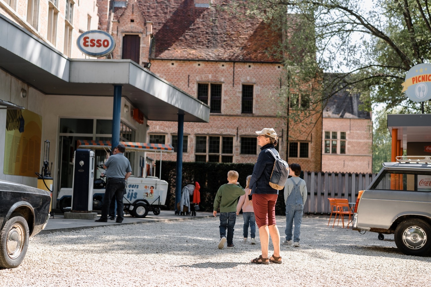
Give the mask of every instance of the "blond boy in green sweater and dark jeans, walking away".
<svg viewBox="0 0 431 287">
<path fill-rule="evenodd" d="M 237 182 L 238 172 L 229 170 L 228 183 L 220 186 L 214 199 L 213 215 L 217 216 L 217 209 L 220 207 L 220 241 L 219 249 L 225 247 L 226 229 L 228 229 L 228 248 L 235 248 L 234 226 L 237 219 L 238 198 L 245 194 L 244 188 Z"/>
</svg>

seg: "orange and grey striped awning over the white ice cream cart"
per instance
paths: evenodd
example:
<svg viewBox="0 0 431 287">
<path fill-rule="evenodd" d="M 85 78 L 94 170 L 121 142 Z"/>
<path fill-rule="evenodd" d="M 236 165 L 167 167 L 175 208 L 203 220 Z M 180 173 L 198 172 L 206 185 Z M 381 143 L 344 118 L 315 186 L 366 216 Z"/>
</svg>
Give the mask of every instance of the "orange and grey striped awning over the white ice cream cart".
<svg viewBox="0 0 431 287">
<path fill-rule="evenodd" d="M 164 151 L 173 152 L 174 148 L 172 145 L 163 144 L 151 144 L 145 142 L 120 142 L 126 146 L 126 151 Z M 111 149 L 110 141 L 93 141 L 86 139 L 78 139 L 78 148 L 90 148 L 90 149 Z"/>
</svg>

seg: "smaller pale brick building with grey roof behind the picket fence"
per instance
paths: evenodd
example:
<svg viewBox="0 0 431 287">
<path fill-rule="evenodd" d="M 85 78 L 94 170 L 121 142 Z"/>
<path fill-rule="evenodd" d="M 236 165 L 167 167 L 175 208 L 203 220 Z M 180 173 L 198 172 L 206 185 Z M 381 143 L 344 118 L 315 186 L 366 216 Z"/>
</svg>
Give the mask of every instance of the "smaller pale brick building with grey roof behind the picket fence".
<svg viewBox="0 0 431 287">
<path fill-rule="evenodd" d="M 372 172 L 371 112 L 359 110 L 359 93 L 343 89 L 323 111 L 322 171 Z"/>
</svg>

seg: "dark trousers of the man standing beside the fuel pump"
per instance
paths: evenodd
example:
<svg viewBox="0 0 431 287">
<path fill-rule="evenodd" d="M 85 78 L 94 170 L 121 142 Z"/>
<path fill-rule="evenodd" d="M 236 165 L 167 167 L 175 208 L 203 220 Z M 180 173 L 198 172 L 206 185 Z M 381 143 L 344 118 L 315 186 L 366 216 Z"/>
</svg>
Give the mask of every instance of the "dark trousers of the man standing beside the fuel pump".
<svg viewBox="0 0 431 287">
<path fill-rule="evenodd" d="M 125 192 L 124 179 L 111 179 L 106 184 L 105 196 L 103 197 L 102 216 L 100 219 L 108 220 L 109 205 L 112 198 L 115 196 L 117 202 L 117 222 L 122 222 L 123 217 L 123 195 Z"/>
</svg>

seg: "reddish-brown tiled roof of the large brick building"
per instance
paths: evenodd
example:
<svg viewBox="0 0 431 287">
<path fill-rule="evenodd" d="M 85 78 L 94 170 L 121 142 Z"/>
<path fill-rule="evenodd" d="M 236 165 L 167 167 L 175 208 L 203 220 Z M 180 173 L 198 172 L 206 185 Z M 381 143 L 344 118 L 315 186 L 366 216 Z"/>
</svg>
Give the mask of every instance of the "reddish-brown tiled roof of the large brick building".
<svg viewBox="0 0 431 287">
<path fill-rule="evenodd" d="M 235 15 L 228 3 L 212 0 L 202 8 L 194 0 L 137 0 L 146 21 L 153 22 L 150 58 L 281 62 L 271 52 L 281 34 L 261 19 Z"/>
</svg>

